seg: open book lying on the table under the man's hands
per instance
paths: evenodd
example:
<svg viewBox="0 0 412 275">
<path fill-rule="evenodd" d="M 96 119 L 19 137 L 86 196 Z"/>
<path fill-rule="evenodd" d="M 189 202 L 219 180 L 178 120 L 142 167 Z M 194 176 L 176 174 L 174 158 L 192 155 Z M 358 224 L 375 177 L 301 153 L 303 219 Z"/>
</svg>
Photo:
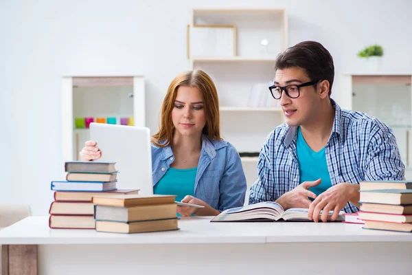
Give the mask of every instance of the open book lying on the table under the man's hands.
<svg viewBox="0 0 412 275">
<path fill-rule="evenodd" d="M 285 211 L 279 203 L 265 201 L 227 209 L 211 221 L 311 221 L 308 219 L 308 212 L 308 208 L 290 208 Z M 328 219 L 332 217 L 332 214 L 333 211 L 330 211 Z M 343 221 L 343 214 L 343 211 L 339 212 L 336 221 Z"/>
</svg>

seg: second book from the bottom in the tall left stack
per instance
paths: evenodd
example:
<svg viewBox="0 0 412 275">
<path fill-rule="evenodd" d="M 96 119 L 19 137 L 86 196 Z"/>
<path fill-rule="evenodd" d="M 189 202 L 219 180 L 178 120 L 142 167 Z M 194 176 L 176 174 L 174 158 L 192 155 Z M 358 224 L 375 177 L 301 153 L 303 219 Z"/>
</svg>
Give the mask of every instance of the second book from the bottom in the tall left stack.
<svg viewBox="0 0 412 275">
<path fill-rule="evenodd" d="M 53 201 L 50 205 L 49 214 L 89 216 L 94 214 L 94 208 L 91 202 Z"/>
</svg>

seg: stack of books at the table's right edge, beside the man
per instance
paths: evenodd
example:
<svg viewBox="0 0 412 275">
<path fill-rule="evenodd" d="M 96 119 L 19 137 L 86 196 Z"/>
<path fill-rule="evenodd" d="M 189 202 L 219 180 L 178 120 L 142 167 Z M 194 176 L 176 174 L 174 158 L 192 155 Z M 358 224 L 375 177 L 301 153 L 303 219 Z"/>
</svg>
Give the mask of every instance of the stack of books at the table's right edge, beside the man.
<svg viewBox="0 0 412 275">
<path fill-rule="evenodd" d="M 362 181 L 364 228 L 412 232 L 412 181 Z"/>
</svg>

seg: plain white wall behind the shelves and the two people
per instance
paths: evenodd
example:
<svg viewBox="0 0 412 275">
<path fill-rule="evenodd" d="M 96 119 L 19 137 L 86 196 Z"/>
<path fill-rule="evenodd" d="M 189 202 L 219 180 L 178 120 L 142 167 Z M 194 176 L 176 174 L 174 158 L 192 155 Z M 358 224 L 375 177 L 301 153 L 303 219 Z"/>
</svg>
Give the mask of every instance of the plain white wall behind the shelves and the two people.
<svg viewBox="0 0 412 275">
<path fill-rule="evenodd" d="M 356 52 L 380 43 L 383 70 L 412 72 L 412 2 L 273 0 L 0 1 L 0 202 L 47 214 L 63 166 L 60 80 L 64 74 L 144 75 L 146 124 L 157 130 L 168 84 L 189 68 L 191 8 L 286 8 L 289 45 L 316 40 L 336 76 L 361 70 Z M 339 102 L 339 79 L 332 96 Z"/>
</svg>

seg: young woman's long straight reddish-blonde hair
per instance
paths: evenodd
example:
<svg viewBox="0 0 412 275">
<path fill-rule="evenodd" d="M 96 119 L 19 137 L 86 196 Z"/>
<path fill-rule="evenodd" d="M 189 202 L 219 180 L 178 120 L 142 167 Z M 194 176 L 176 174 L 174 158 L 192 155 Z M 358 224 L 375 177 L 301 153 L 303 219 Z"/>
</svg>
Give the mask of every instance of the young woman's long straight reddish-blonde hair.
<svg viewBox="0 0 412 275">
<path fill-rule="evenodd" d="M 181 86 L 196 87 L 201 91 L 206 117 L 206 124 L 202 132 L 213 140 L 221 140 L 218 92 L 210 76 L 200 69 L 195 69 L 179 74 L 170 83 L 161 106 L 160 129 L 159 132 L 152 135 L 152 143 L 159 147 L 166 147 L 172 142 L 174 134 L 172 109 L 174 108 L 177 89 Z"/>
</svg>

